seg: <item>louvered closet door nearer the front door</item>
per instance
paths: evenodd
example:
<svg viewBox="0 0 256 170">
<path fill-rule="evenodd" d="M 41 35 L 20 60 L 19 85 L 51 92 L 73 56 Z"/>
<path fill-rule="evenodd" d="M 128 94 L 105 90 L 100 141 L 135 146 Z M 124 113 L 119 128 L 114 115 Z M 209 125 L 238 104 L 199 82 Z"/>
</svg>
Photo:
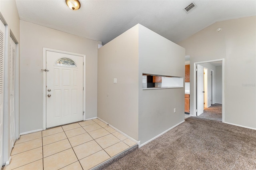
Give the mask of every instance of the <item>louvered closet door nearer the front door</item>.
<svg viewBox="0 0 256 170">
<path fill-rule="evenodd" d="M 12 40 L 10 41 L 10 147 L 14 146 L 16 140 L 15 136 L 15 56 L 16 56 L 16 43 Z"/>
</svg>

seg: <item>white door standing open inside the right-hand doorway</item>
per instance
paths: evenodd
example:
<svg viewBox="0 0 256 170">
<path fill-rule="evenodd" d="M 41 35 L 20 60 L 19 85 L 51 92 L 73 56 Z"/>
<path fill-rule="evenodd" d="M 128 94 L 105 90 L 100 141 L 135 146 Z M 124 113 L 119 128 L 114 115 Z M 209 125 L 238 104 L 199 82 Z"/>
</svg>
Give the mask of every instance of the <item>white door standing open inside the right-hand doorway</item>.
<svg viewBox="0 0 256 170">
<path fill-rule="evenodd" d="M 196 103 L 197 103 L 197 116 L 204 113 L 204 67 L 197 65 L 196 72 Z"/>
</svg>

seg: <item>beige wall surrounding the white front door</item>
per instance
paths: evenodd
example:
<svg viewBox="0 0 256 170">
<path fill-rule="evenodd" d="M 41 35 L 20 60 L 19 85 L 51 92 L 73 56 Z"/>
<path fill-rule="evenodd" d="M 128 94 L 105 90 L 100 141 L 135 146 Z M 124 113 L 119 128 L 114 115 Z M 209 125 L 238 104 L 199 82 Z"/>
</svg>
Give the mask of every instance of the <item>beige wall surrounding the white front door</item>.
<svg viewBox="0 0 256 170">
<path fill-rule="evenodd" d="M 98 42 L 20 20 L 20 132 L 43 128 L 43 47 L 86 55 L 86 119 L 97 117 Z"/>
</svg>

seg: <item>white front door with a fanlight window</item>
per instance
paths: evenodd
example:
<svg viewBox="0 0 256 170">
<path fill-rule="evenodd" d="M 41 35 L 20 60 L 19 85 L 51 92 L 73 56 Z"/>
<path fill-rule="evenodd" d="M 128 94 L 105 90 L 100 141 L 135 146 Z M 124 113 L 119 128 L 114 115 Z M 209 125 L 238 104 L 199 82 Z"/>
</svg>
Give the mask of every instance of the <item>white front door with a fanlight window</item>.
<svg viewBox="0 0 256 170">
<path fill-rule="evenodd" d="M 46 51 L 46 128 L 83 120 L 83 57 Z"/>
</svg>

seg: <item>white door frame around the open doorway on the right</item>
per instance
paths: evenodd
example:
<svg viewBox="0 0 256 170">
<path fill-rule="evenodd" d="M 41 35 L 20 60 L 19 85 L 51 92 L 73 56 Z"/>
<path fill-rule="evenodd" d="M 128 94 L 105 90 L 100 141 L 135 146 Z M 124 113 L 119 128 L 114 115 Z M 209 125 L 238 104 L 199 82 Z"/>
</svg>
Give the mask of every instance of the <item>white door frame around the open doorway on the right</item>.
<svg viewBox="0 0 256 170">
<path fill-rule="evenodd" d="M 215 61 L 222 61 L 222 122 L 225 122 L 225 82 L 224 82 L 224 78 L 225 78 L 225 63 L 224 63 L 224 58 L 222 59 L 214 59 L 214 60 L 208 60 L 208 61 L 199 61 L 199 62 L 194 62 L 194 67 L 193 67 L 193 85 L 194 85 L 194 93 L 193 93 L 193 115 L 192 116 L 196 116 L 196 65 L 197 64 L 203 64 L 203 63 L 211 63 L 211 62 L 215 62 Z"/>
</svg>

